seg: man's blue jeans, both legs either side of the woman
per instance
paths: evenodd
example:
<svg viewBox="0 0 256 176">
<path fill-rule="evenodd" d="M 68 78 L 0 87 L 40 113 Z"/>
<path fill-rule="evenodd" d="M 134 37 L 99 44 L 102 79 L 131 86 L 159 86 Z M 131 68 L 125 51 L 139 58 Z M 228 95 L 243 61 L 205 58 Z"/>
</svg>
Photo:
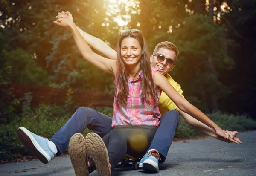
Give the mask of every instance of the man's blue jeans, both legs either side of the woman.
<svg viewBox="0 0 256 176">
<path fill-rule="evenodd" d="M 75 133 L 82 133 L 85 128 L 88 128 L 103 138 L 112 130 L 111 122 L 112 118 L 107 115 L 88 107 L 79 107 L 50 141 L 56 145 L 59 150 L 57 155 L 60 155 L 67 149 L 70 138 Z M 159 127 L 148 149 L 156 149 L 160 153 L 160 162 L 166 159 L 178 124 L 179 113 L 176 110 L 168 111 L 160 118 Z"/>
</svg>

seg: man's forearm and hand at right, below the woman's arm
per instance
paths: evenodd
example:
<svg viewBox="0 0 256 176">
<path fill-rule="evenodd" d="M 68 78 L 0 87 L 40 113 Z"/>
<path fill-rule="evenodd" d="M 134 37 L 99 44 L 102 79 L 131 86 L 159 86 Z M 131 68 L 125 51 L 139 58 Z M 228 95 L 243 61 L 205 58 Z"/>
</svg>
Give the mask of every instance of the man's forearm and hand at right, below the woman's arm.
<svg viewBox="0 0 256 176">
<path fill-rule="evenodd" d="M 179 111 L 180 115 L 182 115 L 186 121 L 187 124 L 191 125 L 192 127 L 194 127 L 195 129 L 197 129 L 198 131 L 207 134 L 209 136 L 212 136 L 218 140 L 221 141 L 225 141 L 225 142 L 231 142 L 228 139 L 225 139 L 221 136 L 218 136 L 217 133 L 212 130 L 210 127 L 208 127 L 207 125 L 203 124 L 201 121 L 198 121 L 197 119 L 193 118 L 192 116 L 190 116 L 189 114 L 183 112 L 182 110 Z M 238 134 L 237 131 L 226 131 L 228 133 L 228 135 L 230 136 L 230 138 L 233 138 L 235 140 L 236 144 L 241 144 L 242 142 L 239 140 L 239 138 L 236 137 L 236 135 Z"/>
</svg>

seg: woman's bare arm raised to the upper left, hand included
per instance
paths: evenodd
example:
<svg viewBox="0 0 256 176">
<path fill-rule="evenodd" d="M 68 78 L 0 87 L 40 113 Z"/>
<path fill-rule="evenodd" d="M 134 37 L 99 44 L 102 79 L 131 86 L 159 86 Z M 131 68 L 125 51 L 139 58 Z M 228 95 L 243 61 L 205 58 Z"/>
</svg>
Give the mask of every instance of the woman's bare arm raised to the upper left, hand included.
<svg viewBox="0 0 256 176">
<path fill-rule="evenodd" d="M 81 55 L 84 59 L 92 63 L 94 66 L 102 69 L 105 72 L 115 74 L 117 70 L 117 65 L 115 60 L 110 60 L 104 58 L 95 52 L 92 51 L 90 46 L 86 43 L 86 41 L 82 38 L 81 34 L 79 33 L 78 29 L 76 28 L 75 23 L 73 23 L 73 19 L 70 17 L 63 18 L 61 22 L 54 21 L 55 24 L 58 26 L 63 26 L 69 29 L 72 34 L 73 38 L 76 42 L 76 46 L 79 49 Z"/>
</svg>

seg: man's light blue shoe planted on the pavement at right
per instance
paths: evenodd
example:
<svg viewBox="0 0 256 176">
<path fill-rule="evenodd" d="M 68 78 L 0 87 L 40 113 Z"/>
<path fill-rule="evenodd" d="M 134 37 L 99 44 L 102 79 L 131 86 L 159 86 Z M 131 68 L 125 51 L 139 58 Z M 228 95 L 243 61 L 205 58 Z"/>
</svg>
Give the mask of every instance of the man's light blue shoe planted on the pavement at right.
<svg viewBox="0 0 256 176">
<path fill-rule="evenodd" d="M 146 153 L 140 161 L 139 168 L 151 173 L 158 173 L 158 160 L 160 156 L 157 150 Z"/>
</svg>

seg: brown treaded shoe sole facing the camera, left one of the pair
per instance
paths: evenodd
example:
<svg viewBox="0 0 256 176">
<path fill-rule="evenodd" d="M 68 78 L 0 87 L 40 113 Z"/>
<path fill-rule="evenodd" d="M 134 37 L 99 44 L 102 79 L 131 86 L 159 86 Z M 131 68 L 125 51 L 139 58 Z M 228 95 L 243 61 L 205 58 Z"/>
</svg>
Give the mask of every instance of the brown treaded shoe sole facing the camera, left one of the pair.
<svg viewBox="0 0 256 176">
<path fill-rule="evenodd" d="M 70 138 L 68 153 L 76 176 L 89 176 L 86 163 L 87 151 L 82 134 L 76 133 Z"/>
</svg>

